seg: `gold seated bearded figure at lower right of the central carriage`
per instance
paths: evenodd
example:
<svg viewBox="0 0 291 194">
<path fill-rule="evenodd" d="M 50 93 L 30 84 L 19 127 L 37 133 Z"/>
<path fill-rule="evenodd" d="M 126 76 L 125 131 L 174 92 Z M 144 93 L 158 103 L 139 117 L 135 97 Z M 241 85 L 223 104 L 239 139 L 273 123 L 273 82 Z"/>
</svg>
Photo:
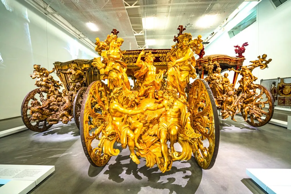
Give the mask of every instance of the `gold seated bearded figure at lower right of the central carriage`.
<svg viewBox="0 0 291 194">
<path fill-rule="evenodd" d="M 155 111 L 165 108 L 164 114 L 159 119 L 158 134 L 161 142 L 162 155 L 164 157 L 164 166 L 161 169 L 165 172 L 170 164 L 168 156 L 168 136 L 170 137 L 171 156 L 178 157 L 179 153 L 174 149 L 174 143 L 177 142 L 177 136 L 183 140 L 188 140 L 200 137 L 196 134 L 190 124 L 190 113 L 187 113 L 186 99 L 182 95 L 178 98 L 177 90 L 167 90 L 164 94 L 164 101 L 153 107 L 148 107 L 147 110 Z"/>
</svg>

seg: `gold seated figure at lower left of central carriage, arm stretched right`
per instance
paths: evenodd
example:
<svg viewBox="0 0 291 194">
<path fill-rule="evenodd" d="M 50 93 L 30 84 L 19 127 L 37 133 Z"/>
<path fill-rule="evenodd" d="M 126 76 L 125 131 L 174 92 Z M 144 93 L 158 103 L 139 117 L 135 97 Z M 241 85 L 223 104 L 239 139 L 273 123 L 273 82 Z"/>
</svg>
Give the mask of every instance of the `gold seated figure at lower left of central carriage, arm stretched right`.
<svg viewBox="0 0 291 194">
<path fill-rule="evenodd" d="M 137 139 L 141 133 L 143 124 L 139 121 L 132 119 L 131 117 L 128 117 L 128 115 L 133 116 L 143 114 L 145 112 L 145 108 L 128 110 L 123 106 L 125 105 L 125 102 L 128 103 L 128 101 L 125 100 L 125 98 L 126 94 L 124 93 L 123 87 L 113 89 L 111 93 L 111 102 L 109 106 L 109 113 L 112 117 L 112 121 L 109 126 L 111 126 L 114 129 L 114 131 L 118 132 L 118 136 L 120 138 L 120 143 L 122 147 L 125 148 L 126 145 L 128 145 L 130 151 L 130 158 L 132 159 L 132 161 L 139 164 L 140 163 L 139 159 L 136 157 L 134 153 L 134 146 L 141 149 L 141 147 L 137 143 Z"/>
</svg>

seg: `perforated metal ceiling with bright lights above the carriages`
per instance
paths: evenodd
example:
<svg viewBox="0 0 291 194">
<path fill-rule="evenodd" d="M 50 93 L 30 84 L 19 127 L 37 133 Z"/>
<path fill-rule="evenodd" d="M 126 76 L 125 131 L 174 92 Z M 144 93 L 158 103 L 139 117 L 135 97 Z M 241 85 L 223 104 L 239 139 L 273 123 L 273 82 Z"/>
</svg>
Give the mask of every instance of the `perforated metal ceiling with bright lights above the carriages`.
<svg viewBox="0 0 291 194">
<path fill-rule="evenodd" d="M 125 40 L 122 49 L 168 49 L 178 26 L 207 38 L 244 0 L 43 0 L 92 42 L 104 40 L 115 28 Z M 133 5 L 133 6 L 132 6 Z M 131 7 L 130 7 L 131 6 Z M 199 27 L 198 19 L 216 15 L 211 25 Z M 91 31 L 87 22 L 97 25 Z M 146 40 L 146 41 L 145 41 Z M 152 43 L 152 44 L 150 44 Z"/>
</svg>

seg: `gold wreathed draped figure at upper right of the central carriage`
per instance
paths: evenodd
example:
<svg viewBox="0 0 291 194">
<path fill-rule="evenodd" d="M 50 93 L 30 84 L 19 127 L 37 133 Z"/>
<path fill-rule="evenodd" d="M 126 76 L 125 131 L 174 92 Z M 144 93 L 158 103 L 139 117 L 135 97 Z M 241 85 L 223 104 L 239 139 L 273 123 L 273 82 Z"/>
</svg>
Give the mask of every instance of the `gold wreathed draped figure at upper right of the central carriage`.
<svg viewBox="0 0 291 194">
<path fill-rule="evenodd" d="M 179 92 L 179 95 L 185 94 L 185 87 L 189 83 L 190 77 L 195 79 L 197 77 L 195 71 L 196 54 L 203 48 L 201 35 L 197 39 L 192 40 L 190 33 L 184 33 L 178 37 L 179 43 L 172 46 L 171 51 L 167 54 L 168 58 L 168 75 L 167 90 L 173 88 Z"/>
</svg>

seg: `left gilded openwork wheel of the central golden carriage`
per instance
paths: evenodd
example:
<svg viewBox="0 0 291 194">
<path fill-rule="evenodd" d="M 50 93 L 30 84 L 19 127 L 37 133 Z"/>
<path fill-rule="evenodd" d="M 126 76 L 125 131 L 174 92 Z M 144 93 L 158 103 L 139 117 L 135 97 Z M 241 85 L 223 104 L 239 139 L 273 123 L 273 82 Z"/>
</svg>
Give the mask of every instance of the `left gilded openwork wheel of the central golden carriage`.
<svg viewBox="0 0 291 194">
<path fill-rule="evenodd" d="M 108 87 L 101 81 L 94 81 L 84 93 L 81 106 L 81 142 L 88 161 L 96 167 L 106 165 L 111 158 L 111 155 L 103 153 L 103 146 L 110 146 L 110 137 L 104 134 L 107 123 L 105 118 L 109 114 L 107 95 L 110 95 Z"/>
</svg>

